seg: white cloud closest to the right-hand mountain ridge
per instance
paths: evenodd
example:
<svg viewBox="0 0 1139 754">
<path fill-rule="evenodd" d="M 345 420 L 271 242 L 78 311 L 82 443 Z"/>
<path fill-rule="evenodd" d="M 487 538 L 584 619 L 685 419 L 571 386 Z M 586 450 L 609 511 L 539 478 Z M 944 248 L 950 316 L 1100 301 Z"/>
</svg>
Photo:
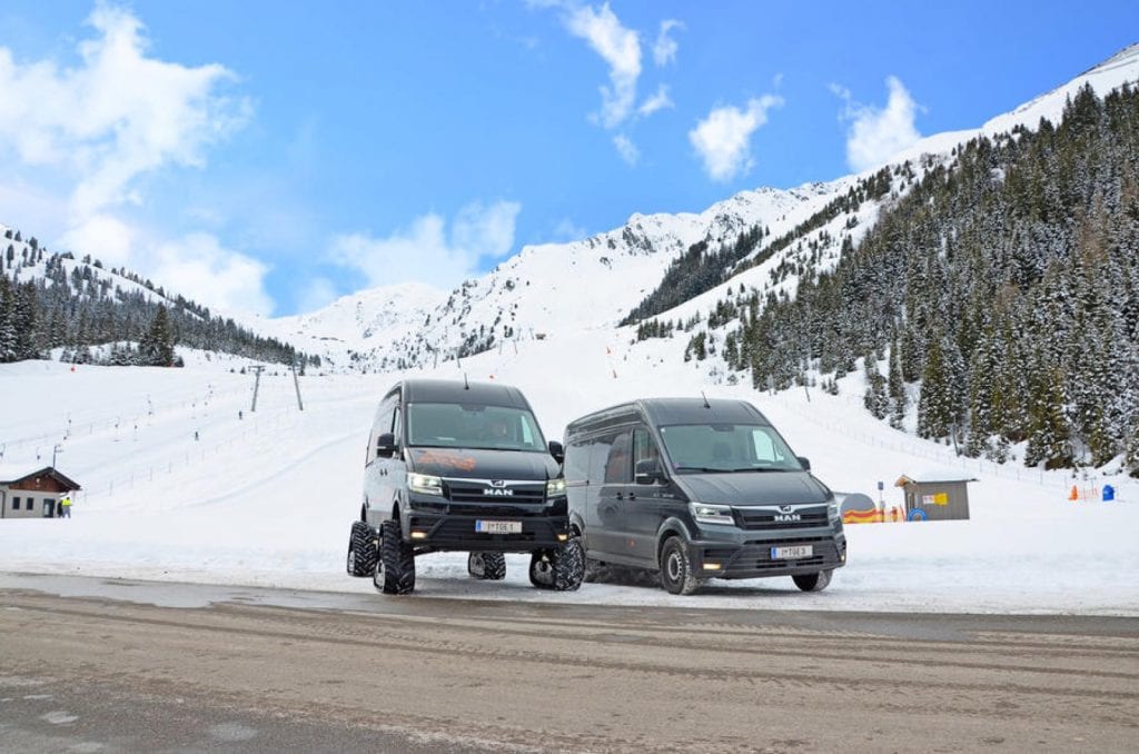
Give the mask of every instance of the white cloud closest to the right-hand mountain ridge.
<svg viewBox="0 0 1139 754">
<path fill-rule="evenodd" d="M 921 138 L 913 125 L 920 106 L 895 76 L 886 79 L 886 87 L 890 97 L 885 108 L 861 105 L 852 100 L 849 89 L 830 87 L 846 103 L 841 117 L 851 122 L 846 132 L 846 164 L 854 172 L 885 164 Z"/>
</svg>

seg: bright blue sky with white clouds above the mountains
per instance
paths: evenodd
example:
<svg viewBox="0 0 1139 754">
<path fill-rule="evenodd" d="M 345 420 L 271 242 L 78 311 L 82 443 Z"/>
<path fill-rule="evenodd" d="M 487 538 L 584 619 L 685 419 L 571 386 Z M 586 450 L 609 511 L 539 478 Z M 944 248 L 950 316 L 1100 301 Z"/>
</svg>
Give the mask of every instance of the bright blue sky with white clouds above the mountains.
<svg viewBox="0 0 1139 754">
<path fill-rule="evenodd" d="M 1136 2 L 6 0 L 0 222 L 295 313 L 830 180 L 1137 41 Z"/>
</svg>

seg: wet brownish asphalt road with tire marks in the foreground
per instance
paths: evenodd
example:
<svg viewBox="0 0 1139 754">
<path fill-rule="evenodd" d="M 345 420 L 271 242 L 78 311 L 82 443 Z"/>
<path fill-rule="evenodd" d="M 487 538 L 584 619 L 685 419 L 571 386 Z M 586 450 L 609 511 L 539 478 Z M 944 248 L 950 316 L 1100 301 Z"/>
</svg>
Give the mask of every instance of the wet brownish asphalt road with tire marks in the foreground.
<svg viewBox="0 0 1139 754">
<path fill-rule="evenodd" d="M 1130 752 L 1139 620 L 0 574 L 0 749 Z"/>
</svg>

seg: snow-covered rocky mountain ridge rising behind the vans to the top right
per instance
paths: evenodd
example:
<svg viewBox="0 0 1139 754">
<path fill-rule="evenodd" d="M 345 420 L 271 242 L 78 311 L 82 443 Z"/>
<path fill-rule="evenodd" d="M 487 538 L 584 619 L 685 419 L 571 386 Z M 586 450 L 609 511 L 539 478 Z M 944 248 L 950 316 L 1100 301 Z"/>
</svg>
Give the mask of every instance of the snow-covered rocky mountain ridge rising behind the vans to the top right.
<svg viewBox="0 0 1139 754">
<path fill-rule="evenodd" d="M 844 241 L 857 244 L 874 226 L 883 203 L 896 200 L 928 170 L 952 163 L 957 146 L 1016 126 L 1035 129 L 1041 118 L 1055 123 L 1065 103 L 1084 85 L 1104 96 L 1136 81 L 1139 44 L 977 129 L 926 137 L 886 165 L 860 174 L 788 190 L 743 191 L 698 214 L 634 214 L 621 228 L 583 240 L 526 246 L 450 294 L 418 286 L 380 287 L 311 314 L 265 320 L 259 329 L 320 354 L 327 368 L 366 371 L 429 366 L 511 339 L 557 337 L 567 330 L 598 330 L 608 337 L 693 244 L 704 240 L 714 249 L 756 226 L 765 235 L 737 274 L 662 318 L 706 313 L 740 286 L 793 295 L 796 270 L 834 267 Z M 890 186 L 880 197 L 820 218 L 822 210 L 883 167 Z M 786 241 L 788 235 L 794 243 L 770 253 L 772 244 Z"/>
</svg>

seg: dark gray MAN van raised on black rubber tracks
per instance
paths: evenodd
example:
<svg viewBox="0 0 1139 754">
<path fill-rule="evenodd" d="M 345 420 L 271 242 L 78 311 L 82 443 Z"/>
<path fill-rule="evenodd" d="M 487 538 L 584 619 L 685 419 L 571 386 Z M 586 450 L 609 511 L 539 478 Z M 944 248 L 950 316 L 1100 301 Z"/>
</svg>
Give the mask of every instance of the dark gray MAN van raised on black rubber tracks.
<svg viewBox="0 0 1139 754">
<path fill-rule="evenodd" d="M 516 387 L 407 379 L 379 403 L 364 458 L 363 503 L 347 571 L 385 593 L 415 589 L 415 558 L 470 552 L 476 579 L 506 576 L 503 552 L 530 552 L 540 589 L 577 589 L 562 445 L 547 444 Z"/>
</svg>

